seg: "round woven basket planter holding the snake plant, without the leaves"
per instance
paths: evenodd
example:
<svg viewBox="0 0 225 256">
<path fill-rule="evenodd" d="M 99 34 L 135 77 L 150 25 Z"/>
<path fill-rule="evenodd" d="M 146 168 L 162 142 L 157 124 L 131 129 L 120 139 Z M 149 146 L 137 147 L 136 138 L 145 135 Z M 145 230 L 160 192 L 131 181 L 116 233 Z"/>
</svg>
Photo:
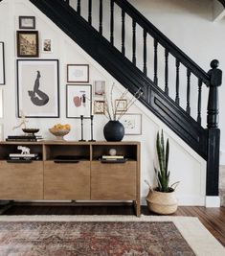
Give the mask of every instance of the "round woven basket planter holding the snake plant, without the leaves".
<svg viewBox="0 0 225 256">
<path fill-rule="evenodd" d="M 177 199 L 174 191 L 169 193 L 149 190 L 146 197 L 147 207 L 157 214 L 172 214 L 177 210 Z"/>
</svg>

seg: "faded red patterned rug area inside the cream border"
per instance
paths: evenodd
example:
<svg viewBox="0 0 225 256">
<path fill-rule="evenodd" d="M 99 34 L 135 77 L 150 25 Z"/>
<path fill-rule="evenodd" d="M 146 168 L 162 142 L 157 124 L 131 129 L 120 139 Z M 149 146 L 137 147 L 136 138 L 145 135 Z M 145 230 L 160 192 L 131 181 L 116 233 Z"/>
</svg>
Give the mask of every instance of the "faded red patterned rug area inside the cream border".
<svg viewBox="0 0 225 256">
<path fill-rule="evenodd" d="M 195 255 L 172 221 L 1 221 L 0 255 Z"/>
</svg>

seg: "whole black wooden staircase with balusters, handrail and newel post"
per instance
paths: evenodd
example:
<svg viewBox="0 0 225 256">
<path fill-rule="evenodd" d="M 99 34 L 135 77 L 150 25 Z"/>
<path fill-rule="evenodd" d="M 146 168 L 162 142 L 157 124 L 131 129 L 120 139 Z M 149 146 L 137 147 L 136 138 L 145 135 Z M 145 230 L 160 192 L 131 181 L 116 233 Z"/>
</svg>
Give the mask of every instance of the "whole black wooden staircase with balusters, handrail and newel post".
<svg viewBox="0 0 225 256">
<path fill-rule="evenodd" d="M 144 92 L 139 99 L 143 105 L 159 117 L 169 128 L 180 136 L 194 151 L 207 161 L 207 196 L 218 195 L 219 164 L 219 129 L 217 87 L 221 84 L 221 71 L 218 61 L 213 60 L 212 69 L 206 73 L 194 61 L 184 54 L 166 35 L 163 35 L 145 16 L 138 12 L 126 0 L 88 0 L 87 15 L 82 16 L 82 4 L 77 0 L 76 10 L 69 0 L 30 0 L 40 11 L 44 12 L 56 25 L 69 35 L 92 58 L 95 58 L 117 81 L 121 82 L 132 94 L 140 88 Z M 93 12 L 98 3 L 98 12 Z M 74 2 L 73 2 L 74 3 Z M 107 4 L 107 5 L 106 5 Z M 95 6 L 96 7 L 96 6 Z M 106 8 L 108 10 L 106 11 Z M 121 12 L 121 49 L 115 47 L 115 9 Z M 96 10 L 96 8 L 95 8 Z M 106 12 L 106 14 L 105 14 Z M 103 16 L 109 15 L 109 38 L 103 31 Z M 93 17 L 98 16 L 98 29 L 95 29 Z M 131 20 L 132 58 L 126 57 L 125 28 L 126 20 Z M 117 25 L 117 26 L 116 26 Z M 137 27 L 143 31 L 143 37 L 137 37 Z M 151 38 L 153 45 L 147 44 Z M 137 67 L 137 44 L 143 45 L 143 69 Z M 164 89 L 159 84 L 159 48 L 164 49 Z M 153 76 L 148 74 L 147 56 L 152 54 Z M 175 98 L 169 95 L 169 59 L 173 58 L 175 75 Z M 186 69 L 187 104 L 180 105 L 181 68 Z M 191 82 L 194 77 L 196 84 Z M 202 86 L 210 87 L 207 128 L 202 128 Z M 170 84 L 171 85 L 171 84 Z M 191 89 L 198 94 L 196 120 L 191 117 Z"/>
</svg>

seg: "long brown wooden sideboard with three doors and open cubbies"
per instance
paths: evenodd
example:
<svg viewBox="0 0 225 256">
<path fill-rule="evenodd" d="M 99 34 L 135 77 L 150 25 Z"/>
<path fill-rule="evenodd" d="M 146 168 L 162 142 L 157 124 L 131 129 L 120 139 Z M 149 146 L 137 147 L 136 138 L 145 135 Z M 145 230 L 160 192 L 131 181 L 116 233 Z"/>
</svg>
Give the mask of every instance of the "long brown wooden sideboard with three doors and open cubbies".
<svg viewBox="0 0 225 256">
<path fill-rule="evenodd" d="M 17 146 L 38 153 L 39 160 L 9 162 Z M 124 163 L 102 163 L 101 156 L 116 149 Z M 75 163 L 56 163 L 70 155 Z M 131 200 L 140 216 L 139 142 L 1 142 L 0 199 L 6 200 Z"/>
</svg>

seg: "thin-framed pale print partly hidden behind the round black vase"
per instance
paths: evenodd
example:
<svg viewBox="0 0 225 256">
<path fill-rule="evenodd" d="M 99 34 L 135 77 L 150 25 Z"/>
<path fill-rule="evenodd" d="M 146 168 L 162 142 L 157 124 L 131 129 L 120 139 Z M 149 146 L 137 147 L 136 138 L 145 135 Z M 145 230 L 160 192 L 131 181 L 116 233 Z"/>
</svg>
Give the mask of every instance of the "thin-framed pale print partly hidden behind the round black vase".
<svg viewBox="0 0 225 256">
<path fill-rule="evenodd" d="M 124 114 L 120 122 L 124 125 L 124 134 L 141 135 L 142 134 L 142 115 Z"/>
</svg>

